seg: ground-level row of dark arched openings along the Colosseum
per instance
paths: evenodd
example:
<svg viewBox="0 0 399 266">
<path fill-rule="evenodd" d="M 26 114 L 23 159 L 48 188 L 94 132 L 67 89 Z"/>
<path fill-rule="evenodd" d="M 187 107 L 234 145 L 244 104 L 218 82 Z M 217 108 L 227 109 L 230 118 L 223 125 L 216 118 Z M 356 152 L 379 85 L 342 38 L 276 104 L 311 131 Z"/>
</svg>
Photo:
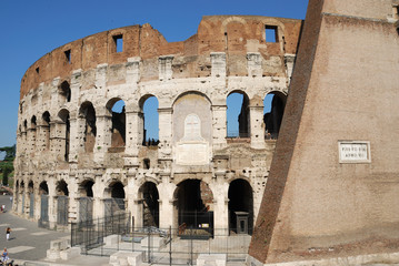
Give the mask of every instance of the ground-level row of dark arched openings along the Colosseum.
<svg viewBox="0 0 399 266">
<path fill-rule="evenodd" d="M 103 213 L 97 213 L 97 217 L 109 217 L 119 212 L 126 209 L 131 211 L 131 206 L 127 206 L 129 196 L 126 193 L 126 185 L 120 181 L 111 182 L 103 192 L 96 193 L 94 181 L 84 180 L 78 185 L 78 191 L 74 194 L 74 198 L 78 204 L 80 222 L 90 221 L 94 218 L 93 203 L 98 198 L 102 198 Z M 159 184 L 152 181 L 146 181 L 138 190 L 138 198 L 140 202 L 137 205 L 139 211 L 133 212 L 140 214 L 141 217 L 134 217 L 134 219 L 141 219 L 138 224 L 144 227 L 147 226 L 160 226 L 160 206 L 159 203 L 167 201 L 160 198 L 158 191 Z M 215 212 L 215 196 L 209 185 L 201 180 L 184 180 L 180 182 L 174 192 L 174 208 L 178 219 L 178 226 L 184 227 L 201 227 L 213 228 L 213 212 Z M 49 222 L 49 204 L 51 204 L 51 197 L 53 196 L 53 204 L 57 208 L 57 224 L 68 225 L 69 222 L 69 201 L 70 190 L 64 180 L 58 181 L 54 186 L 54 191 L 49 191 L 47 181 L 40 182 L 38 188 L 34 187 L 33 182 L 30 181 L 28 190 L 23 181 L 16 183 L 16 205 L 21 207 L 20 213 L 26 214 L 29 212 L 29 216 L 33 217 L 34 209 L 40 212 L 37 216 L 41 223 Z M 28 203 L 26 196 L 30 200 Z M 104 197 L 103 197 L 104 196 Z M 36 198 L 37 197 L 37 198 Z M 253 194 L 251 185 L 243 178 L 237 178 L 231 181 L 228 188 L 228 213 L 229 213 L 229 231 L 231 233 L 240 233 L 241 227 L 246 227 L 245 233 L 251 234 L 253 227 Z M 72 198 L 73 200 L 73 198 Z M 36 207 L 34 203 L 40 203 L 40 207 Z M 239 224 L 238 217 L 245 214 L 247 217 L 246 225 Z M 172 214 L 170 214 L 172 215 Z M 242 232 L 241 232 L 242 233 Z"/>
</svg>

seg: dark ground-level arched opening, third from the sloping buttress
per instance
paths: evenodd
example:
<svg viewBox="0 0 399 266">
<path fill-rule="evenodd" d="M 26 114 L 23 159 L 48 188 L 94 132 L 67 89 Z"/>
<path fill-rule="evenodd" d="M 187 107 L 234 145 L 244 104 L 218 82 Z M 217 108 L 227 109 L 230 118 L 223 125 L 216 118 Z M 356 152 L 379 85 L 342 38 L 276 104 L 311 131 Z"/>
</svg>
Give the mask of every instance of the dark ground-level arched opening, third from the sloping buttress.
<svg viewBox="0 0 399 266">
<path fill-rule="evenodd" d="M 142 197 L 142 224 L 143 226 L 159 226 L 159 194 L 157 185 L 146 182 L 141 185 L 139 193 Z"/>
</svg>

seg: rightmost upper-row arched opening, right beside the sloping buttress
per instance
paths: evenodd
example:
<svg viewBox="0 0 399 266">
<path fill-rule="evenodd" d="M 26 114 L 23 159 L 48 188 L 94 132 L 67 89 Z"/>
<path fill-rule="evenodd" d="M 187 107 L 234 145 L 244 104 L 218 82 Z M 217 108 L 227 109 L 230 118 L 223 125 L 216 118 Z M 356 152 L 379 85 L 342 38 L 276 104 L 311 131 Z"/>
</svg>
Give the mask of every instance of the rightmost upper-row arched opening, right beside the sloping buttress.
<svg viewBox="0 0 399 266">
<path fill-rule="evenodd" d="M 281 92 L 270 92 L 263 100 L 265 137 L 276 140 L 280 132 L 287 96 Z"/>
</svg>

